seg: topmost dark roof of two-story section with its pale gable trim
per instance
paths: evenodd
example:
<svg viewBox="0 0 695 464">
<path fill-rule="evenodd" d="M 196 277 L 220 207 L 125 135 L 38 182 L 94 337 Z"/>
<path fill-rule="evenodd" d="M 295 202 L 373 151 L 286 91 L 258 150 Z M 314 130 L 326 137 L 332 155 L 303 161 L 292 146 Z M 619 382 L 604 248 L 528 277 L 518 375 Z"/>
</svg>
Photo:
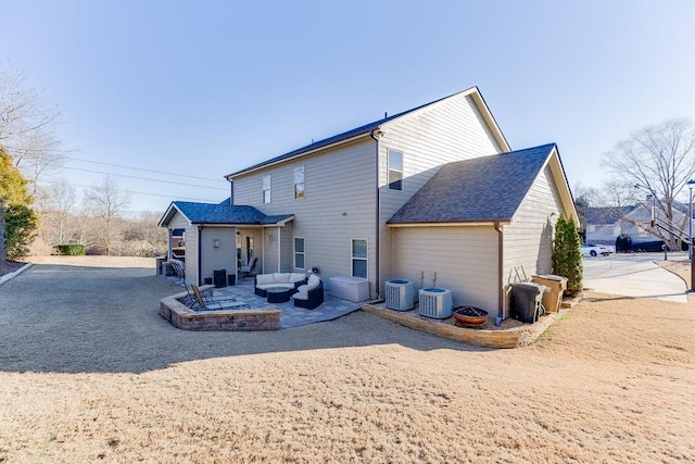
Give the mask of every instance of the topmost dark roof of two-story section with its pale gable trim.
<svg viewBox="0 0 695 464">
<path fill-rule="evenodd" d="M 231 180 L 231 178 L 233 176 L 237 176 L 239 174 L 244 174 L 244 173 L 248 173 L 248 172 L 256 171 L 258 168 L 262 168 L 262 167 L 265 167 L 265 166 L 269 166 L 269 165 L 286 161 L 286 160 L 290 160 L 292 158 L 300 156 L 300 155 L 303 155 L 303 154 L 306 154 L 306 153 L 311 153 L 313 151 L 316 151 L 316 150 L 319 150 L 319 149 L 323 149 L 323 148 L 327 148 L 327 147 L 330 147 L 330 146 L 336 145 L 336 143 L 340 143 L 340 142 L 344 142 L 344 141 L 348 141 L 348 140 L 352 140 L 352 139 L 357 138 L 357 137 L 363 137 L 363 136 L 370 135 L 374 130 L 377 130 L 378 128 L 380 128 L 386 123 L 389 123 L 391 121 L 394 121 L 394 120 L 401 118 L 403 116 L 409 115 L 412 113 L 415 113 L 417 111 L 424 110 L 424 109 L 426 109 L 428 106 L 434 105 L 434 104 L 437 104 L 437 103 L 439 103 L 441 101 L 444 101 L 444 100 L 447 100 L 450 98 L 454 98 L 454 97 L 457 97 L 457 96 L 460 96 L 460 97 L 470 96 L 473 99 L 476 105 L 478 106 L 478 109 L 480 110 L 483 118 L 485 120 L 485 123 L 488 124 L 488 127 L 490 128 L 491 133 L 494 135 L 497 143 L 501 147 L 503 147 L 503 149 L 507 149 L 508 150 L 509 146 L 508 146 L 504 135 L 502 134 L 502 130 L 500 129 L 500 126 L 497 126 L 497 123 L 495 122 L 494 117 L 492 116 L 492 113 L 490 112 L 490 109 L 488 108 L 485 101 L 483 100 L 482 96 L 480 95 L 480 90 L 478 90 L 478 87 L 471 87 L 469 89 L 462 90 L 459 92 L 450 95 L 450 96 L 444 97 L 444 98 L 440 98 L 438 100 L 431 101 L 429 103 L 425 103 L 422 105 L 413 108 L 410 110 L 403 111 L 403 112 L 394 114 L 392 116 L 388 116 L 388 117 L 384 117 L 382 120 L 375 121 L 375 122 L 371 122 L 369 124 L 365 124 L 364 126 L 359 126 L 359 127 L 356 127 L 354 129 L 346 130 L 344 133 L 338 134 L 338 135 L 332 136 L 332 137 L 328 137 L 326 139 L 319 140 L 319 141 L 314 142 L 314 143 L 309 143 L 309 145 L 307 145 L 305 147 L 299 148 L 296 150 L 292 150 L 292 151 L 287 152 L 285 154 L 281 154 L 279 156 L 275 156 L 275 158 L 273 158 L 270 160 L 264 161 L 262 163 L 254 164 L 253 166 L 247 167 L 244 170 L 237 171 L 236 173 L 228 174 L 225 177 L 227 177 L 228 180 Z"/>
</svg>

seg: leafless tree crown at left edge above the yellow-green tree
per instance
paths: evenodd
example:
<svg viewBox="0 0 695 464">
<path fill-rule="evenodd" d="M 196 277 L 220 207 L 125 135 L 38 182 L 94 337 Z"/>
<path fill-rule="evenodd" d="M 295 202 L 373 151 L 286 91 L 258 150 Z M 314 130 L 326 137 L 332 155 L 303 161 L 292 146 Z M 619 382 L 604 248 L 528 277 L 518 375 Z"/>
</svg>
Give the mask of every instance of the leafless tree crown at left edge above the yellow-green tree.
<svg viewBox="0 0 695 464">
<path fill-rule="evenodd" d="M 13 163 L 36 186 L 39 177 L 60 167 L 65 158 L 55 136 L 59 111 L 43 102 L 43 95 L 26 88 L 23 73 L 0 63 L 0 145 Z"/>
</svg>

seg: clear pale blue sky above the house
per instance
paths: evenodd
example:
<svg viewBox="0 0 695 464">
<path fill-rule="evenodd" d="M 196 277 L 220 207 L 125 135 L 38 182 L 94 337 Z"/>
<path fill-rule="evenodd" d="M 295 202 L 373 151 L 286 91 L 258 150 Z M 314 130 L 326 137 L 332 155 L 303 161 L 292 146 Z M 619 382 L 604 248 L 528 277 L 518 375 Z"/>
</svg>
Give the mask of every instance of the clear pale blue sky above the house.
<svg viewBox="0 0 695 464">
<path fill-rule="evenodd" d="M 695 1 L 0 0 L 0 59 L 61 110 L 66 166 L 225 174 L 478 86 L 570 185 L 632 130 L 695 120 Z M 77 185 L 101 175 L 65 170 Z M 117 178 L 131 210 L 211 190 Z"/>
</svg>

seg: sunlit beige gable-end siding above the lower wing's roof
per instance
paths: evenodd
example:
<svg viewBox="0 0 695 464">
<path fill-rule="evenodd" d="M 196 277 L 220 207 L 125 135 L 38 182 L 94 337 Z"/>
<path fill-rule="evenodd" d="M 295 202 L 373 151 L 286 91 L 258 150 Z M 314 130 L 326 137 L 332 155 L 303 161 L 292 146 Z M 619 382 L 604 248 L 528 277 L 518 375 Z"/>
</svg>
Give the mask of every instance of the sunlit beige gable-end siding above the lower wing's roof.
<svg viewBox="0 0 695 464">
<path fill-rule="evenodd" d="M 388 188 L 388 149 L 403 153 L 403 191 Z M 460 95 L 384 124 L 379 151 L 381 269 L 386 277 L 393 263 L 386 222 L 442 164 L 501 150 L 472 99 Z M 382 289 L 384 280 L 380 281 Z"/>
</svg>

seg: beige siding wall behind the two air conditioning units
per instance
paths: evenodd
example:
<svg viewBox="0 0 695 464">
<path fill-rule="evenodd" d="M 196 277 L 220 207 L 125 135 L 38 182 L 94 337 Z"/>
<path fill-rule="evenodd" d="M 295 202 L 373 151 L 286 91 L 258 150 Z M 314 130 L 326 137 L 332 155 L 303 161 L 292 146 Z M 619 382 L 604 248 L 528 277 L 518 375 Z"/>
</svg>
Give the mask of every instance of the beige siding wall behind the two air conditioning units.
<svg viewBox="0 0 695 464">
<path fill-rule="evenodd" d="M 471 304 L 497 313 L 497 233 L 493 227 L 396 227 L 397 253 L 389 278 L 413 280 L 420 288 L 452 290 L 454 305 Z M 384 279 L 386 281 L 386 279 Z"/>
</svg>

